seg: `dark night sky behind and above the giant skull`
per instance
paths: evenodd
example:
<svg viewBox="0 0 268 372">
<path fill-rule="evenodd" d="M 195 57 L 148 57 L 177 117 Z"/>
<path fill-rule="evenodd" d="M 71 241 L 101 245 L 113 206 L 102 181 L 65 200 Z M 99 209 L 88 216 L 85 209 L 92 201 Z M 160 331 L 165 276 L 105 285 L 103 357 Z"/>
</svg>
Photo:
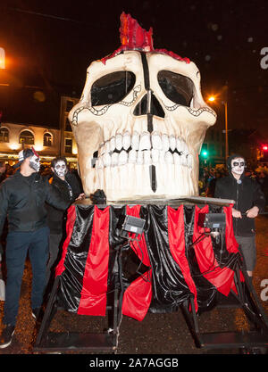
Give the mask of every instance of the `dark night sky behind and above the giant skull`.
<svg viewBox="0 0 268 372">
<path fill-rule="evenodd" d="M 155 48 L 197 64 L 204 97 L 221 93 L 228 84 L 230 128 L 268 132 L 266 0 L 2 0 L 0 47 L 6 70 L 0 70 L 0 84 L 10 84 L 0 87 L 5 120 L 33 122 L 38 112 L 40 124 L 50 120 L 56 126 L 59 96 L 80 97 L 90 62 L 121 45 L 121 12 L 130 13 L 144 29 L 153 28 Z M 41 100 L 37 91 L 44 94 Z M 21 92 L 22 106 L 13 100 Z M 214 106 L 220 124 L 222 108 L 221 103 Z"/>
</svg>

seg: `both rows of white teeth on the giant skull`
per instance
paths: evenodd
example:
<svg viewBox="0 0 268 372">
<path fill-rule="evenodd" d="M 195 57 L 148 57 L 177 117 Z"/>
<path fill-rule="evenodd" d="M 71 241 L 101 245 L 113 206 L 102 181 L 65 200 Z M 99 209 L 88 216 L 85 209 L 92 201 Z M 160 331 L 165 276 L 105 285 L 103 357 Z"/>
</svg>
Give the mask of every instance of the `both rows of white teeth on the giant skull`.
<svg viewBox="0 0 268 372">
<path fill-rule="evenodd" d="M 94 163 L 94 162 L 93 162 Z M 180 164 L 193 167 L 193 156 L 181 137 L 160 135 L 158 132 L 117 134 L 100 145 L 96 168 L 134 164 Z"/>
</svg>

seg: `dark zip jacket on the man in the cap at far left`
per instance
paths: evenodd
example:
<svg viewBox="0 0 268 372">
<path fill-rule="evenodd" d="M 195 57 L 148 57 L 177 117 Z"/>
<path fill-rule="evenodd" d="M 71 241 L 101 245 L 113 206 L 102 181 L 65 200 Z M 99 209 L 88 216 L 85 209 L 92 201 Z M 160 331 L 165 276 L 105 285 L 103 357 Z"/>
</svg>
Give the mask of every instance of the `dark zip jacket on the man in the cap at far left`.
<svg viewBox="0 0 268 372">
<path fill-rule="evenodd" d="M 23 177 L 20 171 L 0 186 L 0 234 L 7 216 L 9 231 L 35 231 L 46 227 L 46 203 L 65 210 L 69 201 L 39 173 Z"/>
</svg>

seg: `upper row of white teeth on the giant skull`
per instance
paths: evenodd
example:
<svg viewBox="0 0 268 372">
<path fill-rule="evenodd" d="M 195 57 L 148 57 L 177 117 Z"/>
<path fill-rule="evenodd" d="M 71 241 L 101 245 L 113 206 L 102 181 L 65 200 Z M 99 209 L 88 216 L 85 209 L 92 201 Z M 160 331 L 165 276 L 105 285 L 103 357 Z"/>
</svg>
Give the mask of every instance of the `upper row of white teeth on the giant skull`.
<svg viewBox="0 0 268 372">
<path fill-rule="evenodd" d="M 116 149 L 129 150 L 131 147 L 132 150 L 143 151 L 143 150 L 163 150 L 167 152 L 168 150 L 177 151 L 179 153 L 184 153 L 188 155 L 188 146 L 181 137 L 168 136 L 166 134 L 159 134 L 158 132 L 143 132 L 141 135 L 138 132 L 134 132 L 133 135 L 130 135 L 130 132 L 125 132 L 122 134 L 117 134 L 113 136 L 104 144 L 100 145 L 98 150 L 98 156 L 103 155 L 104 153 L 113 153 Z"/>
</svg>

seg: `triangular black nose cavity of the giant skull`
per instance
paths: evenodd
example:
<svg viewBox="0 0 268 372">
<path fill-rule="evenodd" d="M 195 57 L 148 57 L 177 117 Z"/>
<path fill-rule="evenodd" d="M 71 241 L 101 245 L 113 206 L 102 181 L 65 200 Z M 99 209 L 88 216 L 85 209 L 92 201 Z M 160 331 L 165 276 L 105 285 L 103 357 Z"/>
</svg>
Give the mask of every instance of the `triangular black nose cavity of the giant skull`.
<svg viewBox="0 0 268 372">
<path fill-rule="evenodd" d="M 151 114 L 164 118 L 163 107 L 151 90 L 148 90 L 147 94 L 138 102 L 133 114 L 135 116 Z"/>
</svg>

